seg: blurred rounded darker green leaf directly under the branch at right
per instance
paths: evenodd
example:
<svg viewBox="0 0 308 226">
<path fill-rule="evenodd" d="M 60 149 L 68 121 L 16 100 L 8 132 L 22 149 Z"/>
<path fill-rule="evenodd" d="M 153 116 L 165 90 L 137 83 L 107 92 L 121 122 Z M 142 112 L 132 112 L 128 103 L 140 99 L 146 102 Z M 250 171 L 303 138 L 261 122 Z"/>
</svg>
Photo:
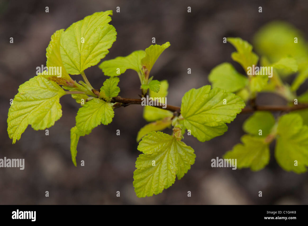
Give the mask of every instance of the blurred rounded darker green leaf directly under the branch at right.
<svg viewBox="0 0 308 226">
<path fill-rule="evenodd" d="M 275 124 L 275 118 L 272 113 L 267 111 L 258 111 L 250 116 L 243 124 L 243 130 L 251 135 L 259 136 L 259 129 L 262 130 L 260 137 L 270 134 Z"/>
</svg>

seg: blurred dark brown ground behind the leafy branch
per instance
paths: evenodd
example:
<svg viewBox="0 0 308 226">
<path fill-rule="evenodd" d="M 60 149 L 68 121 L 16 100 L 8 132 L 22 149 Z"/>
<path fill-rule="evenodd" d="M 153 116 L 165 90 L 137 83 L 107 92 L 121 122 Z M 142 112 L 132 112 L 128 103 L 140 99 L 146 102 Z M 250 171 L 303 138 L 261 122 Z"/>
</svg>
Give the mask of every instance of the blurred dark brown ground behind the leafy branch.
<svg viewBox="0 0 308 226">
<path fill-rule="evenodd" d="M 45 7 L 49 7 L 49 13 Z M 120 6 L 120 13 L 116 7 Z M 187 7 L 191 7 L 191 13 Z M 258 7 L 262 6 L 262 13 Z M 209 84 L 210 70 L 231 62 L 235 51 L 223 37 L 241 37 L 252 43 L 255 32 L 267 22 L 282 20 L 293 24 L 308 38 L 308 2 L 280 1 L 8 1 L 0 0 L 0 158 L 24 158 L 25 169 L 0 168 L 0 204 L 308 204 L 307 173 L 284 171 L 274 159 L 259 172 L 250 169 L 211 168 L 211 159 L 222 158 L 244 134 L 241 126 L 249 114 L 240 114 L 228 124 L 228 131 L 201 143 L 193 136 L 184 142 L 197 155 L 195 164 L 181 179 L 159 195 L 137 198 L 133 188 L 137 150 L 136 136 L 147 122 L 143 107 L 130 105 L 115 109 L 110 125 L 98 126 L 81 137 L 77 167 L 71 161 L 70 129 L 75 125 L 79 104 L 69 95 L 61 97 L 63 116 L 45 131 L 28 126 L 12 145 L 7 134 L 10 99 L 18 86 L 35 76 L 36 67 L 46 65 L 46 48 L 51 35 L 97 11 L 113 10 L 110 22 L 117 41 L 103 59 L 126 56 L 152 44 L 171 46 L 156 61 L 151 75 L 169 82 L 168 104 L 180 106 L 184 93 Z M 14 43 L 10 43 L 10 37 Z M 187 68 L 192 73 L 187 74 Z M 107 78 L 98 66 L 85 70 L 94 88 Z M 71 76 L 82 80 L 80 75 Z M 289 77 L 292 80 L 294 77 Z M 120 76 L 121 97 L 138 98 L 140 81 L 135 71 Z M 307 89 L 307 83 L 300 92 Z M 257 103 L 285 104 L 272 94 L 261 94 Z M 116 130 L 120 129 L 120 136 Z M 166 130 L 171 133 L 171 130 Z M 80 161 L 85 166 L 80 166 Z M 79 164 L 78 164 L 79 163 Z M 49 191 L 49 197 L 45 197 Z M 120 191 L 120 197 L 116 192 Z M 191 191 L 191 197 L 187 192 Z M 262 191 L 262 197 L 258 192 Z"/>
</svg>

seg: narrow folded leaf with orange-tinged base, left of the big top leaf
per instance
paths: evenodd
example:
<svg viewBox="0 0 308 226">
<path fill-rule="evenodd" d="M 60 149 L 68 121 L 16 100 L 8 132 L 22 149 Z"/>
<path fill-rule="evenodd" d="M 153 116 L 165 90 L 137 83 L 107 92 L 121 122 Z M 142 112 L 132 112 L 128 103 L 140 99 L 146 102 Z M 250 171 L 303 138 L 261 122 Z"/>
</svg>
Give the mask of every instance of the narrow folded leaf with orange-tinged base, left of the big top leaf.
<svg viewBox="0 0 308 226">
<path fill-rule="evenodd" d="M 42 76 L 48 80 L 57 82 L 59 85 L 75 86 L 75 81 L 66 72 L 60 54 L 60 38 L 63 34 L 63 30 L 57 30 L 52 36 L 49 45 L 46 49 L 46 66 L 52 71 L 42 73 Z M 61 69 L 61 77 L 57 75 L 57 68 L 59 67 L 59 72 Z M 60 76 L 59 75 L 59 76 Z"/>
</svg>

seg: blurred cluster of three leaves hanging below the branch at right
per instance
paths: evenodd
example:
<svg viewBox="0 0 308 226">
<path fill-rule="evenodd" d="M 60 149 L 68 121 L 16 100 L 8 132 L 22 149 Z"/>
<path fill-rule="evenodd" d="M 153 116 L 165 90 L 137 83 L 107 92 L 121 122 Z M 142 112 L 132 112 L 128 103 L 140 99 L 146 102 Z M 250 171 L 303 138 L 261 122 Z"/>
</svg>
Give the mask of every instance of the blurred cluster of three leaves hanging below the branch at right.
<svg viewBox="0 0 308 226">
<path fill-rule="evenodd" d="M 249 133 L 224 156 L 237 159 L 237 168 L 263 169 L 270 160 L 270 143 L 276 139 L 275 158 L 286 171 L 306 172 L 308 167 L 308 126 L 296 113 L 283 115 L 276 122 L 269 112 L 256 112 L 243 129 Z"/>
</svg>

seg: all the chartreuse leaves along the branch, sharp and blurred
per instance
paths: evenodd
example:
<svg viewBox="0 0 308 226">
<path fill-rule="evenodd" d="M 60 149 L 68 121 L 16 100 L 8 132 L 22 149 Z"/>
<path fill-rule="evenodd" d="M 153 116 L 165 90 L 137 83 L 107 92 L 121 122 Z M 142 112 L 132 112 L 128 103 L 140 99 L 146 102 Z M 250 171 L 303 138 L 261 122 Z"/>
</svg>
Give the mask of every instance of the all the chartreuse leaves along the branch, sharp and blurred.
<svg viewBox="0 0 308 226">
<path fill-rule="evenodd" d="M 137 72 L 142 97 L 147 96 L 148 91 L 149 97 L 158 98 L 159 101 L 167 97 L 168 82 L 153 80 L 150 73 L 158 57 L 170 46 L 169 42 L 151 45 L 126 57 L 103 61 L 99 68 L 109 78 L 100 89 L 92 87 L 84 70 L 97 65 L 115 42 L 117 33 L 109 24 L 110 15 L 112 11 L 94 13 L 51 36 L 46 49 L 46 65 L 51 70 L 39 73 L 20 85 L 10 106 L 7 131 L 13 143 L 20 139 L 28 125 L 35 130 L 54 125 L 62 116 L 60 97 L 70 94 L 81 105 L 76 115 L 76 125 L 70 131 L 71 158 L 77 166 L 79 138 L 91 133 L 100 124 L 108 125 L 114 117 L 115 108 L 130 104 L 123 101 L 128 98 L 118 96 L 120 74 L 127 69 Z M 266 37 L 272 34 L 265 30 L 259 35 Z M 142 153 L 136 161 L 133 182 L 138 197 L 162 192 L 175 182 L 176 176 L 180 180 L 194 164 L 194 150 L 181 141 L 186 130 L 201 142 L 209 141 L 225 133 L 228 129 L 226 123 L 233 121 L 245 107 L 245 101 L 255 98 L 258 92 L 278 93 L 288 101 L 297 97 L 294 91 L 308 77 L 304 45 L 298 48 L 290 44 L 290 51 L 284 52 L 281 46 L 267 43 L 270 38 L 265 40 L 266 43 L 258 43 L 261 50 L 264 46 L 279 50 L 277 55 L 265 52 L 260 60 L 261 65 L 274 67 L 271 78 L 264 74 L 248 73 L 246 76 L 237 72 L 230 63 L 223 63 L 209 75 L 213 89 L 210 85 L 190 89 L 184 94 L 180 108 L 144 107 L 144 119 L 150 123 L 141 128 L 137 135 L 138 142 L 142 139 L 137 148 Z M 248 42 L 241 38 L 228 38 L 227 41 L 236 49 L 231 54 L 232 59 L 244 68 L 245 73 L 248 67 L 257 65 L 259 57 Z M 289 39 L 284 37 L 282 41 L 289 42 Z M 57 68 L 61 69 L 61 75 L 53 73 Z M 297 71 L 299 75 L 291 88 L 278 76 L 278 73 Z M 84 81 L 72 79 L 71 76 L 76 74 L 81 74 Z M 298 96 L 298 101 L 307 103 L 307 93 Z M 243 144 L 234 146 L 225 157 L 237 158 L 239 168 L 260 170 L 268 164 L 269 144 L 276 139 L 275 157 L 278 164 L 287 171 L 305 172 L 308 165 L 307 124 L 306 110 L 283 115 L 277 120 L 269 112 L 257 112 L 243 126 L 248 133 L 242 137 Z M 166 128 L 172 128 L 171 135 L 160 132 Z M 298 161 L 298 166 L 294 166 L 294 161 Z"/>
</svg>

